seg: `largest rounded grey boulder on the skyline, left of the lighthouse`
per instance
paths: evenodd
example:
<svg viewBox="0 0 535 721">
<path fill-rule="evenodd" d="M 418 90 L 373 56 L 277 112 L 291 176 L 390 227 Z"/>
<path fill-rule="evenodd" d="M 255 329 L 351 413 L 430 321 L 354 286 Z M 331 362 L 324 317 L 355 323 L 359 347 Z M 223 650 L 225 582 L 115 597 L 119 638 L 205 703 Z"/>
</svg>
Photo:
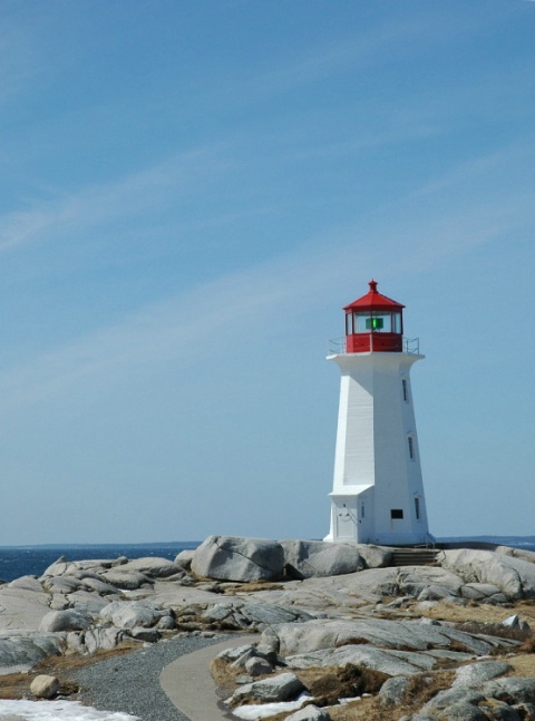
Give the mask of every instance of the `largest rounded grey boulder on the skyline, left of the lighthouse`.
<svg viewBox="0 0 535 721">
<path fill-rule="evenodd" d="M 196 548 L 192 572 L 217 581 L 274 581 L 282 576 L 284 551 L 276 540 L 210 536 Z"/>
</svg>

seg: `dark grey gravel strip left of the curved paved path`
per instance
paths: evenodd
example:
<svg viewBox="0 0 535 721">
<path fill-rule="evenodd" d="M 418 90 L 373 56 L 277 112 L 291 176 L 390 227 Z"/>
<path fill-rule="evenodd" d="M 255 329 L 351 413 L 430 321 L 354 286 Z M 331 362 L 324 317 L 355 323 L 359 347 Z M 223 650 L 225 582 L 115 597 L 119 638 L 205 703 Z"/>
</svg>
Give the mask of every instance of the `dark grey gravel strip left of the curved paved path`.
<svg viewBox="0 0 535 721">
<path fill-rule="evenodd" d="M 160 641 L 125 656 L 116 656 L 71 673 L 87 691 L 82 702 L 105 711 L 123 711 L 142 721 L 188 721 L 167 699 L 159 674 L 168 663 L 186 653 L 218 643 L 225 636 L 178 636 Z"/>
</svg>

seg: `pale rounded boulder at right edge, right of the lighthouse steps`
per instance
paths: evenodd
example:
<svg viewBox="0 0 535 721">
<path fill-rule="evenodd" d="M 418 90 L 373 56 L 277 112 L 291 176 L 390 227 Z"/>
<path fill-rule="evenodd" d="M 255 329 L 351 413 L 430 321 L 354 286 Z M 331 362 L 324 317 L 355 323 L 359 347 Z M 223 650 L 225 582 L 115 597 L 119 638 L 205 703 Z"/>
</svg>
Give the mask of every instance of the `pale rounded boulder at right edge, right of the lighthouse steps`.
<svg viewBox="0 0 535 721">
<path fill-rule="evenodd" d="M 444 552 L 442 567 L 466 583 L 497 586 L 507 600 L 535 598 L 535 564 L 492 551 L 455 548 Z"/>
</svg>

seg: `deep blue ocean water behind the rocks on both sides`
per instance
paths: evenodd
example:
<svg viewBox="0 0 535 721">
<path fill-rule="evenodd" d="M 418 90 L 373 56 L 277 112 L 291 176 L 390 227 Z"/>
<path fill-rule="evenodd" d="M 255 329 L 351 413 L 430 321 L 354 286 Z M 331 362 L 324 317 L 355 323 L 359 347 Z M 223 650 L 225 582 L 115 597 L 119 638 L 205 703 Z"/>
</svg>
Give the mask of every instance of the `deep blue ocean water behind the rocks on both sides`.
<svg viewBox="0 0 535 721">
<path fill-rule="evenodd" d="M 498 546 L 513 546 L 535 551 L 535 536 L 455 536 L 437 538 L 444 543 L 489 543 Z M 129 559 L 155 556 L 169 558 L 184 549 L 196 548 L 200 540 L 176 540 L 173 543 L 150 544 L 94 544 L 54 546 L 0 546 L 0 581 L 9 582 L 20 576 L 40 576 L 50 564 L 64 556 L 68 561 L 89 561 L 93 558 Z"/>
</svg>

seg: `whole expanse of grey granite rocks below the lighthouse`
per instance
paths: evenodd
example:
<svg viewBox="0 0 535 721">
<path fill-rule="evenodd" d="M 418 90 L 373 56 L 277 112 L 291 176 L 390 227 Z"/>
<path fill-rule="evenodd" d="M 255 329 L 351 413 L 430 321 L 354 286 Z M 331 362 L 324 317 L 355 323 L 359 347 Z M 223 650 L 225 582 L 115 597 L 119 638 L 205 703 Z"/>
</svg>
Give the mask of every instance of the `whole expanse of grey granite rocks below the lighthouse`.
<svg viewBox="0 0 535 721">
<path fill-rule="evenodd" d="M 94 653 L 125 641 L 156 643 L 176 633 L 256 631 L 259 644 L 225 660 L 243 682 L 233 703 L 256 703 L 255 694 L 271 688 L 264 681 L 280 678 L 282 666 L 296 678 L 311 670 L 321 675 L 356 668 L 381 675 L 381 683 L 389 679 L 378 703 L 391 707 L 402 703 L 421 674 L 431 679 L 447 666 L 451 679 L 459 668 L 450 695 L 437 694 L 440 708 L 429 702 L 412 721 L 442 721 L 450 708 L 470 718 L 487 701 L 507 707 L 504 719 L 513 719 L 512 713 L 527 719 L 532 701 L 509 703 L 503 686 L 488 685 L 513 673 L 505 656 L 519 643 L 510 637 L 529 633 L 522 617 L 527 605 L 500 616 L 509 639 L 485 627 L 459 631 L 409 615 L 441 608 L 457 616 L 483 604 L 499 608 L 531 600 L 535 564 L 502 552 L 450 549 L 439 557 L 441 565 L 390 567 L 390 555 L 374 546 L 211 536 L 175 562 L 62 558 L 40 578 L 26 576 L 0 587 L 0 665 L 28 668 L 49 654 Z M 495 653 L 503 659 L 474 663 Z M 291 698 L 294 693 L 300 692 Z M 300 703 L 292 701 L 292 708 Z M 295 713 L 322 718 L 310 700 L 303 703 L 309 705 Z M 323 698 L 315 705 L 324 703 Z"/>
</svg>

